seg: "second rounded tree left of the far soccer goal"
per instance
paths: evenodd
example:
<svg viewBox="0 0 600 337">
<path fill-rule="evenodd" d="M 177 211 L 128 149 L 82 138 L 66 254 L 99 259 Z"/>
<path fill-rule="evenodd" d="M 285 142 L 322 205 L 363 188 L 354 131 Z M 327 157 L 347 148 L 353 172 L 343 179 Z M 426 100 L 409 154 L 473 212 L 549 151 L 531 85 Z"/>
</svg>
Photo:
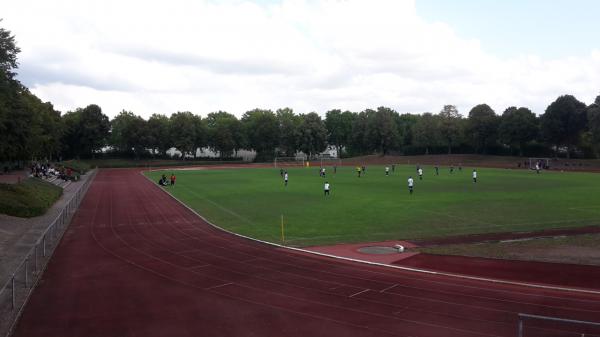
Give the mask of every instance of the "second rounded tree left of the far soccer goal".
<svg viewBox="0 0 600 337">
<path fill-rule="evenodd" d="M 208 114 L 205 119 L 208 132 L 208 146 L 219 152 L 222 158 L 231 157 L 239 148 L 238 134 L 242 132 L 240 121 L 225 111 Z"/>
</svg>

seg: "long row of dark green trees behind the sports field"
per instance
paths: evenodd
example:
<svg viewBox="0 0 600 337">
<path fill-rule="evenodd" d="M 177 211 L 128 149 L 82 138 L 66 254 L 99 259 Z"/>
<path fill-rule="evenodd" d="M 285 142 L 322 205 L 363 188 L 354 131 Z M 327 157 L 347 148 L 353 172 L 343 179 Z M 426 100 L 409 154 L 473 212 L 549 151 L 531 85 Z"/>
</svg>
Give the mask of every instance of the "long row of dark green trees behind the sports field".
<svg viewBox="0 0 600 337">
<path fill-rule="evenodd" d="M 257 160 L 276 155 L 308 155 L 335 146 L 338 153 L 600 157 L 600 96 L 590 105 L 574 96 L 558 97 L 540 116 L 526 107 L 502 114 L 487 104 L 462 116 L 453 105 L 437 113 L 400 114 L 388 107 L 361 112 L 330 110 L 297 114 L 290 108 L 254 109 L 241 118 L 218 111 L 205 117 L 189 111 L 144 119 L 121 111 L 112 120 L 98 105 L 64 114 L 42 102 L 15 79 L 19 48 L 0 28 L 0 162 L 88 158 L 112 152 L 122 156 L 166 156 L 171 148 L 184 157 L 209 148 L 222 158 L 240 149 Z"/>
</svg>

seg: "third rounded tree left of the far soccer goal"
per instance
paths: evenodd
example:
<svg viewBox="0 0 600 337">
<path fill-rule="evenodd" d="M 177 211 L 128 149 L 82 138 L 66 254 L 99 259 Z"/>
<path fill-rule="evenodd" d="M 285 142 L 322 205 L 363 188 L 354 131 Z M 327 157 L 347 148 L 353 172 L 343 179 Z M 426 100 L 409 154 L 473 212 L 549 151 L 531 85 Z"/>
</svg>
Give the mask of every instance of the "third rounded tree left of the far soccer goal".
<svg viewBox="0 0 600 337">
<path fill-rule="evenodd" d="M 171 115 L 170 134 L 173 146 L 181 152 L 183 159 L 187 155 L 196 155 L 197 137 L 196 117 L 189 111 L 177 112 Z"/>
</svg>

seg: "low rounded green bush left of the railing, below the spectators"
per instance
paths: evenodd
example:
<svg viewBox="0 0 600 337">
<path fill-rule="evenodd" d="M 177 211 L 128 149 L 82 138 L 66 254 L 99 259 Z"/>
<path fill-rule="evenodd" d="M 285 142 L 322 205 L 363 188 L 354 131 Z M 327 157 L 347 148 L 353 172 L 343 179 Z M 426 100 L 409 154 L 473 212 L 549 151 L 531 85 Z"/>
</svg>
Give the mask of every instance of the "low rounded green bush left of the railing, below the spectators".
<svg viewBox="0 0 600 337">
<path fill-rule="evenodd" d="M 37 178 L 19 184 L 0 184 L 0 214 L 30 218 L 46 213 L 62 195 L 62 188 Z"/>
</svg>

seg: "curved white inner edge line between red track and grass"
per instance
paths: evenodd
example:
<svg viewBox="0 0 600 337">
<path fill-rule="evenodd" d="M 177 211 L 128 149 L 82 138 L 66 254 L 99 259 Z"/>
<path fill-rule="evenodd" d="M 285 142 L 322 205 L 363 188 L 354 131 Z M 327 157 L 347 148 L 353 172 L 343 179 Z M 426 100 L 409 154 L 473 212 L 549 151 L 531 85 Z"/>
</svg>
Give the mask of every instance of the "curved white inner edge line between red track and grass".
<svg viewBox="0 0 600 337">
<path fill-rule="evenodd" d="M 146 178 L 146 180 L 148 180 L 152 184 L 154 184 L 154 181 L 150 180 L 150 178 L 148 178 L 147 176 L 145 176 L 143 174 L 143 171 L 140 170 L 139 174 L 142 177 Z M 275 247 L 279 247 L 279 248 L 283 248 L 283 249 L 288 249 L 288 250 L 291 250 L 291 251 L 297 251 L 297 252 L 302 252 L 302 253 L 308 253 L 308 254 L 313 254 L 313 255 L 318 255 L 318 256 L 329 257 L 329 258 L 338 259 L 338 260 L 345 260 L 345 261 L 357 262 L 357 263 L 362 263 L 362 264 L 367 264 L 367 265 L 372 265 L 372 266 L 380 266 L 380 267 L 386 267 L 386 268 L 406 270 L 406 271 L 412 271 L 412 272 L 422 273 L 422 274 L 440 275 L 440 276 L 452 277 L 452 278 L 457 278 L 457 279 L 465 279 L 465 280 L 480 281 L 480 282 L 489 282 L 489 283 L 495 283 L 495 284 L 517 285 L 517 286 L 529 287 L 529 288 L 537 288 L 537 289 L 558 290 L 558 291 L 567 291 L 567 292 L 573 292 L 573 293 L 584 293 L 584 294 L 596 294 L 596 295 L 600 295 L 600 291 L 599 290 L 582 289 L 582 288 L 569 288 L 569 287 L 542 285 L 542 284 L 527 283 L 527 282 L 508 281 L 508 280 L 493 279 L 493 278 L 478 277 L 478 276 L 452 274 L 452 273 L 446 273 L 446 272 L 437 272 L 437 271 L 426 270 L 426 269 L 419 269 L 419 268 L 412 268 L 412 267 L 389 265 L 389 264 L 379 263 L 379 262 L 370 262 L 370 261 L 358 260 L 358 259 L 353 259 L 353 258 L 348 258 L 348 257 L 343 257 L 343 256 L 331 255 L 331 254 L 326 254 L 326 253 L 319 253 L 319 252 L 310 251 L 310 250 L 302 249 L 302 248 L 288 247 L 288 246 L 284 246 L 284 245 L 281 245 L 281 244 L 278 244 L 278 243 L 273 243 L 273 242 L 268 242 L 268 241 L 264 241 L 264 240 L 260 240 L 260 239 L 251 238 L 249 236 L 238 234 L 238 233 L 226 230 L 226 229 L 224 229 L 222 227 L 219 227 L 219 226 L 213 224 L 212 222 L 210 222 L 207 218 L 205 218 L 202 215 L 200 215 L 198 212 L 196 212 L 196 210 L 194 210 L 190 206 L 186 205 L 181 200 L 177 199 L 171 193 L 168 193 L 167 191 L 165 191 L 162 188 L 160 190 L 163 191 L 169 197 L 173 198 L 173 200 L 177 201 L 180 205 L 182 205 L 183 207 L 187 208 L 190 212 L 196 214 L 196 216 L 198 216 L 200 219 L 204 220 L 210 226 L 212 226 L 212 227 L 214 227 L 214 228 L 216 228 L 218 230 L 221 230 L 221 231 L 223 231 L 225 233 L 229 233 L 231 235 L 234 235 L 234 236 L 237 236 L 237 237 L 240 237 L 240 238 L 244 238 L 246 240 L 260 242 L 260 243 L 263 243 L 263 244 L 266 244 L 266 245 L 270 245 L 270 246 L 275 246 Z"/>
</svg>

